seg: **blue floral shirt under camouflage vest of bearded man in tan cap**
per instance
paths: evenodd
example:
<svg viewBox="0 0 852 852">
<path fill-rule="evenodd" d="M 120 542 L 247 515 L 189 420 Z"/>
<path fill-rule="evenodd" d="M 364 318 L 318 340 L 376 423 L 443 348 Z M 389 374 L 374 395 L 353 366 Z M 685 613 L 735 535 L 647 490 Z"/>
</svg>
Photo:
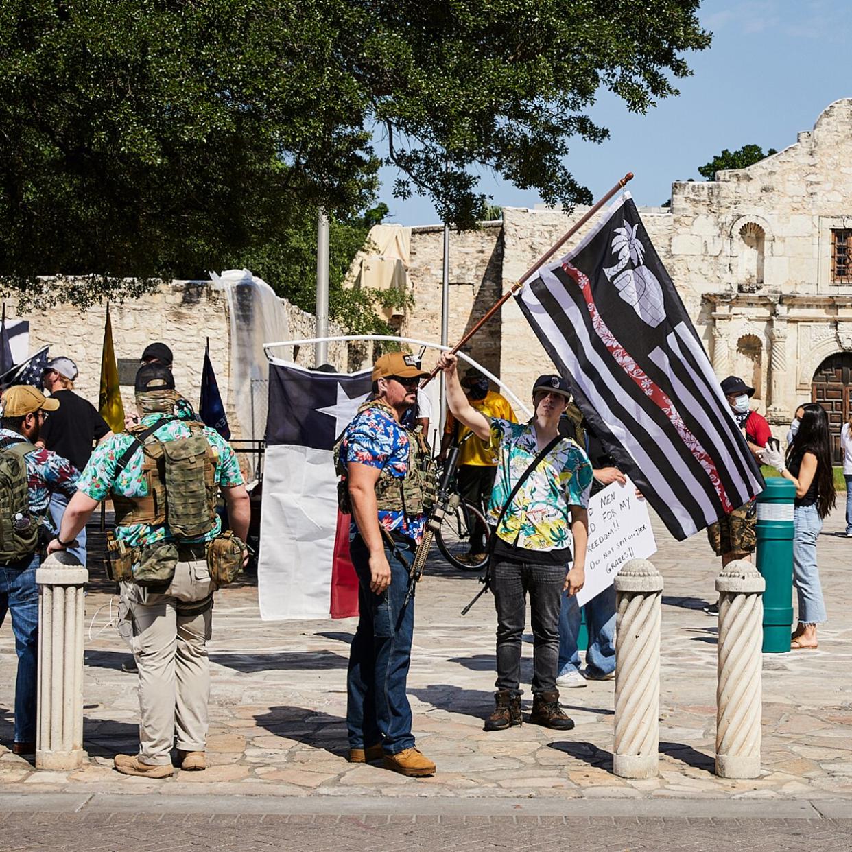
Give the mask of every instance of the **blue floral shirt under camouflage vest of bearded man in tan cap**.
<svg viewBox="0 0 852 852">
<path fill-rule="evenodd" d="M 408 470 L 409 438 L 406 429 L 382 406 L 370 406 L 355 415 L 343 432 L 340 460 L 344 464 L 358 462 L 372 468 L 389 468 L 394 477 L 401 479 Z M 401 535 L 419 542 L 426 526 L 426 515 L 404 515 L 401 511 L 381 509 L 378 522 L 388 532 L 396 530 Z M 354 519 L 349 538 L 358 533 Z"/>
</svg>

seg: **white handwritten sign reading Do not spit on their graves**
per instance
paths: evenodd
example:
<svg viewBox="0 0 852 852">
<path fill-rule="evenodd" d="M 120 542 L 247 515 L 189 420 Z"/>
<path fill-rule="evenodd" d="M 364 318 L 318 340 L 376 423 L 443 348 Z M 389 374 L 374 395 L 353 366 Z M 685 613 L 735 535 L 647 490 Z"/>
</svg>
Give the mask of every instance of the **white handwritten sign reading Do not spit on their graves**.
<svg viewBox="0 0 852 852">
<path fill-rule="evenodd" d="M 636 486 L 613 482 L 589 500 L 589 547 L 585 584 L 577 595 L 584 606 L 615 582 L 631 559 L 648 559 L 657 552 L 648 506 L 636 497 Z"/>
</svg>

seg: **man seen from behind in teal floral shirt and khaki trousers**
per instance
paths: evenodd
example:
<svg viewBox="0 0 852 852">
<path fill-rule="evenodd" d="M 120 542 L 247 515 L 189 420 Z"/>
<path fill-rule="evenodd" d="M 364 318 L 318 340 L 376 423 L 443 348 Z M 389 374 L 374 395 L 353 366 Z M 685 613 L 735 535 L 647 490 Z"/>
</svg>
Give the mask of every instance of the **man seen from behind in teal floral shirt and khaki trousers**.
<svg viewBox="0 0 852 852">
<path fill-rule="evenodd" d="M 201 423 L 187 423 L 176 415 L 175 379 L 160 364 L 141 366 L 136 373 L 136 407 L 141 415 L 141 437 L 167 444 L 188 438 L 193 428 L 204 435 L 213 453 L 213 480 L 222 491 L 233 533 L 243 541 L 249 526 L 249 497 L 233 449 Z M 198 433 L 196 433 L 198 434 Z M 132 452 L 135 446 L 135 452 Z M 128 455 L 130 451 L 130 455 Z M 133 613 L 133 652 L 139 670 L 140 748 L 137 755 L 118 754 L 115 768 L 128 775 L 167 778 L 173 774 L 171 750 L 177 746 L 181 769 L 205 769 L 210 702 L 210 659 L 207 640 L 212 630 L 216 583 L 207 564 L 207 543 L 222 530 L 218 515 L 200 538 L 178 538 L 168 516 L 158 514 L 156 494 L 164 487 L 159 474 L 144 467 L 145 453 L 135 435 L 113 435 L 95 448 L 68 504 L 57 538 L 48 552 L 72 543 L 101 500 L 112 495 L 124 506 L 117 520 L 116 538 L 147 558 L 152 545 L 175 542 L 174 575 L 159 586 L 130 586 Z M 153 492 L 152 492 L 152 489 Z M 178 497 L 166 492 L 166 505 Z M 129 508 L 132 506 L 132 508 Z M 162 520 L 152 520 L 153 515 Z M 136 560 L 134 560 L 136 562 Z"/>
</svg>

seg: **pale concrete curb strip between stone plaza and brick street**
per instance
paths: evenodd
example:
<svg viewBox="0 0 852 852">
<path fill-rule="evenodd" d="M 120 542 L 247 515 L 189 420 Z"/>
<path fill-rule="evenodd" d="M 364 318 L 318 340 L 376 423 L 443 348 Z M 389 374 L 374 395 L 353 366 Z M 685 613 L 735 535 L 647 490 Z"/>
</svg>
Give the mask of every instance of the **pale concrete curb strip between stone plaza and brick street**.
<svg viewBox="0 0 852 852">
<path fill-rule="evenodd" d="M 656 817 L 849 820 L 844 799 L 555 799 L 458 797 L 276 797 L 138 793 L 0 793 L 0 813 L 210 815 L 399 815 Z"/>
</svg>

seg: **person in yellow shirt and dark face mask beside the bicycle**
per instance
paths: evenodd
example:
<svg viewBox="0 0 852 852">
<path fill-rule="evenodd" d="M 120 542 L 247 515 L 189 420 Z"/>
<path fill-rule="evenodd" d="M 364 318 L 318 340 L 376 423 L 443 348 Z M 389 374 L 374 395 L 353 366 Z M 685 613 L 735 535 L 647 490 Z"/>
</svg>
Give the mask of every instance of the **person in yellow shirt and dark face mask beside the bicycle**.
<svg viewBox="0 0 852 852">
<path fill-rule="evenodd" d="M 517 423 L 518 418 L 512 406 L 503 394 L 490 389 L 487 377 L 475 367 L 469 367 L 461 380 L 464 393 L 470 405 L 486 417 L 498 417 Z M 469 435 L 470 429 L 447 412 L 444 437 L 440 444 L 440 456 L 443 460 L 453 441 L 461 441 Z M 469 503 L 473 503 L 484 512 L 491 501 L 491 490 L 494 487 L 494 477 L 497 475 L 497 453 L 485 442 L 470 435 L 462 445 L 458 456 L 458 492 Z M 467 556 L 459 557 L 459 561 L 467 561 L 478 570 L 485 559 L 486 531 L 481 524 L 471 530 L 470 552 Z"/>
</svg>

